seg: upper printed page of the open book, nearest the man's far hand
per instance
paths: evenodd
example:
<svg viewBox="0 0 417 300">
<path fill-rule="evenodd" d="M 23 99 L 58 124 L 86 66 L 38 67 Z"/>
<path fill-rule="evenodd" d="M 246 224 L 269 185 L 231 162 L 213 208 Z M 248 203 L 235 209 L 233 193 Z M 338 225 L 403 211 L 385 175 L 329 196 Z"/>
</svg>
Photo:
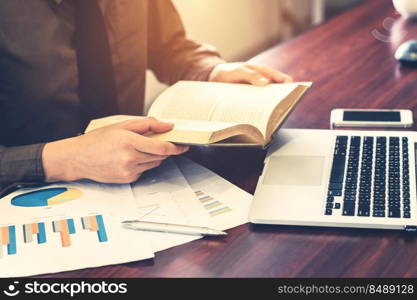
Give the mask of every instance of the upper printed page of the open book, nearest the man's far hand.
<svg viewBox="0 0 417 300">
<path fill-rule="evenodd" d="M 154 102 L 149 116 L 251 124 L 265 136 L 273 109 L 300 83 L 248 84 L 180 81 Z"/>
</svg>

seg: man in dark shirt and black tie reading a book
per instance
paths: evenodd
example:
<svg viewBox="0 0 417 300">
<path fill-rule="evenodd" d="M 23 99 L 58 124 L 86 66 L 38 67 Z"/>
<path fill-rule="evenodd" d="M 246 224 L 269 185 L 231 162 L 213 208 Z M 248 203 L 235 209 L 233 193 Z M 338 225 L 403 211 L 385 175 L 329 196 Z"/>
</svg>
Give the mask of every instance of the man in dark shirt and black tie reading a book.
<svg viewBox="0 0 417 300">
<path fill-rule="evenodd" d="M 142 114 L 146 69 L 168 84 L 291 81 L 188 40 L 169 0 L 2 0 L 0 188 L 129 183 L 187 151 L 143 136 L 172 128 L 153 118 L 80 135 L 93 118 Z"/>
</svg>

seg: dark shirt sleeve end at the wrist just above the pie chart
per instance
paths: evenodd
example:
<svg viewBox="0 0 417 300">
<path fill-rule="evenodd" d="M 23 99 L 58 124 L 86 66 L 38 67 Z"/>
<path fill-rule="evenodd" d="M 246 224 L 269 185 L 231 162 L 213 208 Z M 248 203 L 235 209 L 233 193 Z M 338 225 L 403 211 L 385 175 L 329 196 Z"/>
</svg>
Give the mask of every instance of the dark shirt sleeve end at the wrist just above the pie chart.
<svg viewBox="0 0 417 300">
<path fill-rule="evenodd" d="M 45 180 L 42 150 L 45 144 L 0 146 L 0 190 L 10 185 L 33 184 Z"/>
</svg>

